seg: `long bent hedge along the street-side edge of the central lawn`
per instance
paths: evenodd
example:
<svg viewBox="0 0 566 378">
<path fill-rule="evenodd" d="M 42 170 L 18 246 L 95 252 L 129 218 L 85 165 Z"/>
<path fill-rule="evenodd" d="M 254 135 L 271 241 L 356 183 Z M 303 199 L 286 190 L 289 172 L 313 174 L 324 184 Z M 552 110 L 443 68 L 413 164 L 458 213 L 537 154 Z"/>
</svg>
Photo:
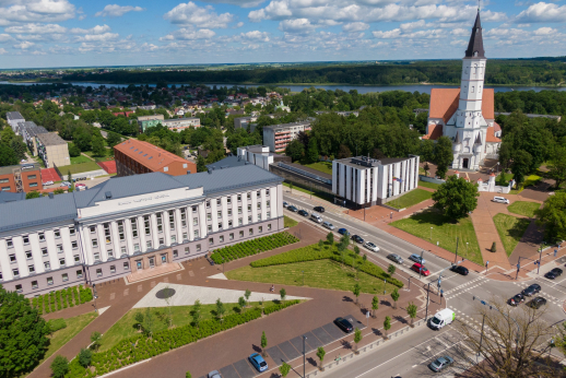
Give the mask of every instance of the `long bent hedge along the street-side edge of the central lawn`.
<svg viewBox="0 0 566 378">
<path fill-rule="evenodd" d="M 342 257 L 335 245 L 332 247 L 326 245 L 322 248 L 320 248 L 318 244 L 314 244 L 303 248 L 290 250 L 288 252 L 252 261 L 250 262 L 250 265 L 251 268 L 262 268 L 323 259 L 331 259 L 350 267 L 353 267 L 355 262 L 355 265 L 359 269 L 359 271 L 373 275 L 375 277 L 386 280 L 387 282 L 389 282 L 392 285 L 396 285 L 397 287 L 403 287 L 403 283 L 401 281 L 393 279 L 388 272 L 384 271 L 375 263 L 369 262 L 368 260 L 364 260 L 362 257 L 355 255 L 351 250 L 347 250 L 345 252 L 345 256 Z"/>
</svg>

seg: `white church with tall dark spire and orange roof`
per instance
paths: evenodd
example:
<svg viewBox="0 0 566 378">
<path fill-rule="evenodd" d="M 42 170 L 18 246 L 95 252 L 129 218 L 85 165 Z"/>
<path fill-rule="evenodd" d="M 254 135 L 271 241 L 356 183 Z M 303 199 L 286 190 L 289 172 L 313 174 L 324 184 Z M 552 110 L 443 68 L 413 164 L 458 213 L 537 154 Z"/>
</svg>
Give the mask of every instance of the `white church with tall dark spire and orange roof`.
<svg viewBox="0 0 566 378">
<path fill-rule="evenodd" d="M 480 11 L 475 17 L 465 57 L 460 88 L 434 88 L 426 135 L 452 141 L 452 169 L 477 170 L 485 158 L 497 158 L 502 129 L 495 122 L 494 91 L 484 88 L 487 59 L 483 49 Z"/>
</svg>

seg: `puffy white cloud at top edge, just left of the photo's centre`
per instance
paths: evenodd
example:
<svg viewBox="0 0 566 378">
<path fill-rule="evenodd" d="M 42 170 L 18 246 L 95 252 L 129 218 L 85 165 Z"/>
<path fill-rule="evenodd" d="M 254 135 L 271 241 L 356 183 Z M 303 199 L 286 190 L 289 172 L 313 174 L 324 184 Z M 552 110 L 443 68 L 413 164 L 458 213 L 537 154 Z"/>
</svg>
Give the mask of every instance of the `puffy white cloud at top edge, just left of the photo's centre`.
<svg viewBox="0 0 566 378">
<path fill-rule="evenodd" d="M 226 28 L 234 21 L 234 14 L 217 14 L 211 5 L 201 8 L 189 1 L 180 3 L 165 13 L 164 19 L 180 25 L 192 25 L 202 28 Z"/>
</svg>

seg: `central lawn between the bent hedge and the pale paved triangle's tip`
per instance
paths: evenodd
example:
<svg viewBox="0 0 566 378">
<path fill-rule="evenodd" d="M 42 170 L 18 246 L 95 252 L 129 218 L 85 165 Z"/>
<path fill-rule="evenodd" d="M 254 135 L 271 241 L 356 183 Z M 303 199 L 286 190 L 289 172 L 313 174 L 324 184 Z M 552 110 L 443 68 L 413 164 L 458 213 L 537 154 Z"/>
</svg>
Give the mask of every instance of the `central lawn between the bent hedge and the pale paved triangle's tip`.
<svg viewBox="0 0 566 378">
<path fill-rule="evenodd" d="M 330 259 L 261 268 L 248 265 L 225 274 L 229 280 L 303 286 L 303 272 L 305 272 L 305 286 L 309 287 L 351 292 L 357 282 L 362 286 L 362 292 L 372 294 L 384 293 L 384 286 L 388 293 L 391 293 L 396 287 L 391 284 L 385 285 L 384 280 L 364 272 L 357 273 L 358 280 L 356 281 L 356 271 L 352 267 Z"/>
</svg>

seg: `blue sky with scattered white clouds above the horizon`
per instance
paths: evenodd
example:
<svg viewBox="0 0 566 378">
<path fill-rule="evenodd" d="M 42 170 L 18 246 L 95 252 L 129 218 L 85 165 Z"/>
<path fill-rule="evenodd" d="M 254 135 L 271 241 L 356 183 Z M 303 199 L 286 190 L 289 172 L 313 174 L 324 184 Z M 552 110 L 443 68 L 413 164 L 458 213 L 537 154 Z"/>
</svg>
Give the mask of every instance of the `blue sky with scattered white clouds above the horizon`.
<svg viewBox="0 0 566 378">
<path fill-rule="evenodd" d="M 486 0 L 487 58 L 566 55 L 566 0 Z M 0 0 L 0 69 L 460 59 L 465 0 Z"/>
</svg>

